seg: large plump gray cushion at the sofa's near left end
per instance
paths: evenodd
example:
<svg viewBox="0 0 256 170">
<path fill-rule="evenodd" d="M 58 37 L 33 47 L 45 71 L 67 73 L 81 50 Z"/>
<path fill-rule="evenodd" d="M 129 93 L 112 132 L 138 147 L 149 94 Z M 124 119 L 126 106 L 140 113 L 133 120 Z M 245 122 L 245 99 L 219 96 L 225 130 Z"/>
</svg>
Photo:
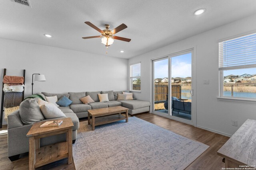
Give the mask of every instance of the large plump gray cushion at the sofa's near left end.
<svg viewBox="0 0 256 170">
<path fill-rule="evenodd" d="M 24 124 L 32 124 L 44 120 L 36 100 L 26 99 L 20 104 L 20 119 Z"/>
</svg>

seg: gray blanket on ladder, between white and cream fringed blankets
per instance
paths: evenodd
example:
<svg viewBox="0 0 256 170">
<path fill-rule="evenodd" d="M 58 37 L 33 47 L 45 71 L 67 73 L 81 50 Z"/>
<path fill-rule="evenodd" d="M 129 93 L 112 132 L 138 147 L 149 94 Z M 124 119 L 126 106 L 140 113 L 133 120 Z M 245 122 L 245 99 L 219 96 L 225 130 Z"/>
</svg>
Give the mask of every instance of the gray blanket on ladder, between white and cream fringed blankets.
<svg viewBox="0 0 256 170">
<path fill-rule="evenodd" d="M 20 106 L 22 102 L 22 92 L 4 93 L 4 107 Z"/>
</svg>

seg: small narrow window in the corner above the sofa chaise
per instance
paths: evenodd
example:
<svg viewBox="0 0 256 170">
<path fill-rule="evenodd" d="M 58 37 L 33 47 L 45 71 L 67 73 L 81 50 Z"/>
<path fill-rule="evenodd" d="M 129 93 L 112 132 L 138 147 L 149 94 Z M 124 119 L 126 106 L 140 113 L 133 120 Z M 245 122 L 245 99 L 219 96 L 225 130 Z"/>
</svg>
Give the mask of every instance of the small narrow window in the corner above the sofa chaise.
<svg viewBox="0 0 256 170">
<path fill-rule="evenodd" d="M 140 92 L 140 63 L 130 65 L 130 90 Z"/>
</svg>

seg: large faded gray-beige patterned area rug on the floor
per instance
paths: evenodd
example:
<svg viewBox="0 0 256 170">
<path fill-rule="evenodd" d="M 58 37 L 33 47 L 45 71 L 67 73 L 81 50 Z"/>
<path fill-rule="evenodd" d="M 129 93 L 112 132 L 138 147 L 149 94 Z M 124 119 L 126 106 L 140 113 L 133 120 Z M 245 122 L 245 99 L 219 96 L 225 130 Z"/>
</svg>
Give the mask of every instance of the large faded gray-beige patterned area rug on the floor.
<svg viewBox="0 0 256 170">
<path fill-rule="evenodd" d="M 137 117 L 86 128 L 73 145 L 76 170 L 183 170 L 209 147 Z"/>
</svg>

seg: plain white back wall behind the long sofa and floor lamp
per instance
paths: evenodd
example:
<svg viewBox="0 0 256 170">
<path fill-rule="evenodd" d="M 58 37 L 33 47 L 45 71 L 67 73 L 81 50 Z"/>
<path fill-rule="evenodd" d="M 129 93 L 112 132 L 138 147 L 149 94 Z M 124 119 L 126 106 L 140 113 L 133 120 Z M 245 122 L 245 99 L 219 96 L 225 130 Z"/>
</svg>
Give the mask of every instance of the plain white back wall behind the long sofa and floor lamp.
<svg viewBox="0 0 256 170">
<path fill-rule="evenodd" d="M 25 96 L 31 94 L 33 73 L 46 77 L 46 82 L 34 82 L 34 93 L 128 89 L 128 60 L 108 55 L 0 39 L 1 82 L 4 68 L 16 76 L 26 70 Z"/>
</svg>

